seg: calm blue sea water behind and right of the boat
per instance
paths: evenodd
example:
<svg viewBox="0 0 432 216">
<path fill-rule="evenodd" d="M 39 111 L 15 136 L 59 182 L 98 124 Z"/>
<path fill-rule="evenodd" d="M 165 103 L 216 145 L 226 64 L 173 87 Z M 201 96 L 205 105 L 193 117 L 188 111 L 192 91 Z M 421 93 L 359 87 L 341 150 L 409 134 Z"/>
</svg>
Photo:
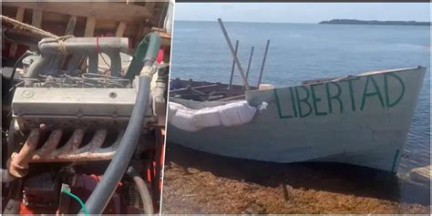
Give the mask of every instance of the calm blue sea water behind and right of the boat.
<svg viewBox="0 0 432 216">
<path fill-rule="evenodd" d="M 350 26 L 226 22 L 233 45 L 240 40 L 244 70 L 255 47 L 250 84 L 256 85 L 265 43 L 270 39 L 262 83 L 298 85 L 319 77 L 355 75 L 377 69 L 429 67 L 429 26 Z M 171 78 L 230 80 L 232 57 L 217 22 L 176 21 Z M 241 84 L 238 72 L 234 82 Z M 417 103 L 398 172 L 427 166 L 430 157 L 430 69 Z"/>
</svg>

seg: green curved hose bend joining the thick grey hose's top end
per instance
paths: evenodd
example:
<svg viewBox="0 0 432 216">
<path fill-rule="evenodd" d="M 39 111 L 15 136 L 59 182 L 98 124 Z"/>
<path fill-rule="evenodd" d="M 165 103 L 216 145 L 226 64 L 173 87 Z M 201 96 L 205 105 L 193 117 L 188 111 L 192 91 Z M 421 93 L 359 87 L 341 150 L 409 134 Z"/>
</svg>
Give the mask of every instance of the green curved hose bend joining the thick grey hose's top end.
<svg viewBox="0 0 432 216">
<path fill-rule="evenodd" d="M 144 39 L 139 42 L 139 46 L 135 51 L 134 57 L 130 62 L 128 71 L 126 71 L 126 78 L 133 79 L 139 74 L 142 67 L 153 66 L 156 58 L 158 57 L 160 47 L 160 37 L 156 33 L 149 33 Z"/>
</svg>

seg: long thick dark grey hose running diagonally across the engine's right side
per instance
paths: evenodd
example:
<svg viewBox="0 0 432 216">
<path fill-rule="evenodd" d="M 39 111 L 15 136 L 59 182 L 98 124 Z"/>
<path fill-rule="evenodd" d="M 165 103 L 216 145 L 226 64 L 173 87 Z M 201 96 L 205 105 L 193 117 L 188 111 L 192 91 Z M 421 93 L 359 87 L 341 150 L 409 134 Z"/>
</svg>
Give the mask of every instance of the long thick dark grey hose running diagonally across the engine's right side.
<svg viewBox="0 0 432 216">
<path fill-rule="evenodd" d="M 144 117 L 149 103 L 150 90 L 149 76 L 139 77 L 139 90 L 135 107 L 130 116 L 128 128 L 125 131 L 123 138 L 120 141 L 118 150 L 114 159 L 109 163 L 108 169 L 105 171 L 102 180 L 91 193 L 86 201 L 87 211 L 89 214 L 101 214 L 105 210 L 108 201 L 111 199 L 114 191 L 117 188 L 118 181 L 121 180 L 123 174 L 128 169 L 129 161 L 137 147 L 139 135 L 141 134 Z M 79 211 L 83 215 L 83 211 Z"/>
</svg>

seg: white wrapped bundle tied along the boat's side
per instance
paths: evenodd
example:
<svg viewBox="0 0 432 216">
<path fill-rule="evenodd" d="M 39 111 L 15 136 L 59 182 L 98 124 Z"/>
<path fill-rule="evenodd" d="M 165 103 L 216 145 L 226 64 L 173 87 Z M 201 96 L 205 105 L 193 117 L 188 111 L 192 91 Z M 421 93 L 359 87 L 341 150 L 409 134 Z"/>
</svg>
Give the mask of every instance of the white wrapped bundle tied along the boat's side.
<svg viewBox="0 0 432 216">
<path fill-rule="evenodd" d="M 212 108 L 191 109 L 170 102 L 168 122 L 176 128 L 197 131 L 217 126 L 238 126 L 252 120 L 256 108 L 249 106 L 246 100 L 232 102 Z"/>
</svg>

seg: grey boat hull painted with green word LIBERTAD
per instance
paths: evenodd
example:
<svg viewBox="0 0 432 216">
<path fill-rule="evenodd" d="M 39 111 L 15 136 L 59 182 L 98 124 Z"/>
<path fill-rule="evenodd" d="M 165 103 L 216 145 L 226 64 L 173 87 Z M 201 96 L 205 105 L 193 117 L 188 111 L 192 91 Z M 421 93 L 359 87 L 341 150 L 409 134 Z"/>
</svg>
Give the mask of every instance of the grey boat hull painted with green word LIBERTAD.
<svg viewBox="0 0 432 216">
<path fill-rule="evenodd" d="M 396 172 L 426 67 L 246 92 L 251 106 L 266 102 L 237 127 L 190 132 L 168 124 L 169 142 L 234 158 L 274 162 L 332 161 Z M 173 98 L 189 108 L 226 102 Z"/>
</svg>

